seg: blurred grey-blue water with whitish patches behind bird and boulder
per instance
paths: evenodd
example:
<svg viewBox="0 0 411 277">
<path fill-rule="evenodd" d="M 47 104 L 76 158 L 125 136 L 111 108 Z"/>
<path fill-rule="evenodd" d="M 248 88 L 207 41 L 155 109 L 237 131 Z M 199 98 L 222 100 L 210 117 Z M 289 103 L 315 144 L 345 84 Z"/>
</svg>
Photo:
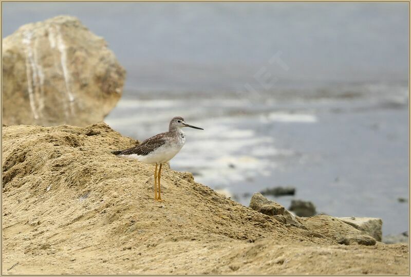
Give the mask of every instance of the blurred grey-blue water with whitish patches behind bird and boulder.
<svg viewBox="0 0 411 277">
<path fill-rule="evenodd" d="M 106 122 L 139 140 L 183 116 L 170 162 L 248 205 L 265 188 L 408 230 L 407 3 L 3 3 L 3 38 L 68 14 L 127 70 Z"/>
</svg>

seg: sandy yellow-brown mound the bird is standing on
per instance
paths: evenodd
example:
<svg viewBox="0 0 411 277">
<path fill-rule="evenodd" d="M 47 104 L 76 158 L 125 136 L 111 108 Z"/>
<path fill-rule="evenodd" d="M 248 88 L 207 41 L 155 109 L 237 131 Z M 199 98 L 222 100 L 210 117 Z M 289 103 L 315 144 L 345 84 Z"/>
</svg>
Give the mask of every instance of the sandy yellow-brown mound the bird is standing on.
<svg viewBox="0 0 411 277">
<path fill-rule="evenodd" d="M 331 221 L 306 218 L 308 230 L 284 224 L 169 167 L 156 202 L 153 166 L 110 153 L 136 143 L 103 123 L 3 127 L 3 273 L 16 263 L 8 273 L 408 270 L 403 245 L 340 245 L 340 236 L 315 235 L 322 226 L 331 234 Z"/>
</svg>

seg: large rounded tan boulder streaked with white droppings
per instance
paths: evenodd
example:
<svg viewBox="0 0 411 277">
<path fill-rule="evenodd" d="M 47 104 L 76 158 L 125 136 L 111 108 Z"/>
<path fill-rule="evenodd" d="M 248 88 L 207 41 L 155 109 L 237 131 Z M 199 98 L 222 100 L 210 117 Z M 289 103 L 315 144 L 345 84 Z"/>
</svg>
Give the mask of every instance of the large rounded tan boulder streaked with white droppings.
<svg viewBox="0 0 411 277">
<path fill-rule="evenodd" d="M 120 99 L 125 70 L 76 17 L 20 27 L 3 40 L 3 123 L 84 126 Z"/>
</svg>

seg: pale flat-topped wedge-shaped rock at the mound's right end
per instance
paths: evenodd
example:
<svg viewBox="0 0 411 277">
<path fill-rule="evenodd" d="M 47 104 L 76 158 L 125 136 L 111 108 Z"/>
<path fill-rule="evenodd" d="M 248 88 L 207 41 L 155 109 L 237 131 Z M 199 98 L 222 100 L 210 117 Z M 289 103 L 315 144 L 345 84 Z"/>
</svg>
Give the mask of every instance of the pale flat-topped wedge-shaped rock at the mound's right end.
<svg viewBox="0 0 411 277">
<path fill-rule="evenodd" d="M 346 224 L 370 235 L 381 242 L 382 237 L 382 220 L 374 217 L 339 217 Z"/>
</svg>

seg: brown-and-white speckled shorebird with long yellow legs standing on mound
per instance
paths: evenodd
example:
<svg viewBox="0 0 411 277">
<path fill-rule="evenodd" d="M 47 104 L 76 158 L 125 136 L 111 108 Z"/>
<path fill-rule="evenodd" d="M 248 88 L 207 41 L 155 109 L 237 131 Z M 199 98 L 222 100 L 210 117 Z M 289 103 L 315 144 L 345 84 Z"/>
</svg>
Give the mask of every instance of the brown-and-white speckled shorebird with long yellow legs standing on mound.
<svg viewBox="0 0 411 277">
<path fill-rule="evenodd" d="M 185 143 L 185 134 L 181 130 L 182 127 L 204 130 L 203 128 L 187 124 L 182 117 L 176 116 L 170 121 L 169 132 L 155 135 L 129 149 L 111 152 L 121 158 L 156 165 L 154 170 L 154 199 L 157 201 L 162 201 L 160 186 L 161 166 L 164 162 L 171 160 Z"/>
</svg>

